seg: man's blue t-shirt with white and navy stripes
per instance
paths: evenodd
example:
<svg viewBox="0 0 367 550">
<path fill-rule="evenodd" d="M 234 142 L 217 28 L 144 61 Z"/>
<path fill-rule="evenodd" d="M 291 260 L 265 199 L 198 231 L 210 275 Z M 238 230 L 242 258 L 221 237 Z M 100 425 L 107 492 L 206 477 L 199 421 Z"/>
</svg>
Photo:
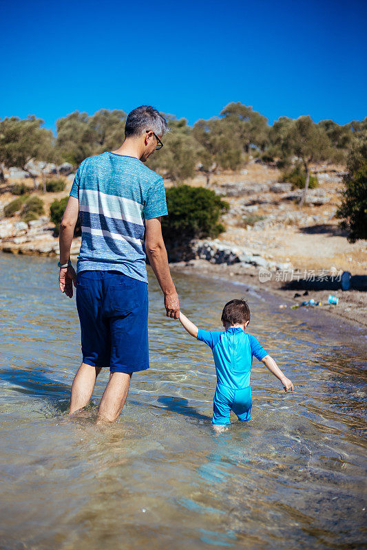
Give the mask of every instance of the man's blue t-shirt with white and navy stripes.
<svg viewBox="0 0 367 550">
<path fill-rule="evenodd" d="M 167 214 L 162 177 L 135 157 L 103 153 L 83 160 L 70 196 L 81 217 L 77 272 L 115 270 L 147 283 L 144 220 Z"/>
</svg>

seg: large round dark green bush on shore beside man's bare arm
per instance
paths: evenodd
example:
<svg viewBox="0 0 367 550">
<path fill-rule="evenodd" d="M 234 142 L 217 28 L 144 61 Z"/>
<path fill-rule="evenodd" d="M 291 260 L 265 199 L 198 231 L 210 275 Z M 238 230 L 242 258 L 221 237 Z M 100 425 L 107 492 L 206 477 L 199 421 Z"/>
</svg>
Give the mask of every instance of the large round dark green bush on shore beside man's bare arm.
<svg viewBox="0 0 367 550">
<path fill-rule="evenodd" d="M 162 218 L 162 232 L 168 250 L 191 239 L 216 237 L 224 231 L 220 214 L 229 204 L 204 187 L 180 185 L 167 190 L 168 216 Z"/>
</svg>

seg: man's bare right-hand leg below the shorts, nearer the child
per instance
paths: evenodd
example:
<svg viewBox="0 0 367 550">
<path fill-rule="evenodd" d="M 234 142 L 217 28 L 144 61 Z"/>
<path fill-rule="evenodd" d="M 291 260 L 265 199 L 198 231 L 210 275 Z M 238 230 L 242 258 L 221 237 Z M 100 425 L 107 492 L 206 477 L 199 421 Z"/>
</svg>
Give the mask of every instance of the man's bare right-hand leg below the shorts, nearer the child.
<svg viewBox="0 0 367 550">
<path fill-rule="evenodd" d="M 111 373 L 98 408 L 97 422 L 114 422 L 125 405 L 132 373 Z"/>
</svg>

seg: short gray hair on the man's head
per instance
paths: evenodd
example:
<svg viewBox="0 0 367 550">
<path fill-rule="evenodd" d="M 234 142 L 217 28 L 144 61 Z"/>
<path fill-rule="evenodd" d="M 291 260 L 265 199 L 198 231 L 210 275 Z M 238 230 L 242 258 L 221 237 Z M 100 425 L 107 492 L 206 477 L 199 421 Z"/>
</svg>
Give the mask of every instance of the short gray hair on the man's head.
<svg viewBox="0 0 367 550">
<path fill-rule="evenodd" d="M 127 115 L 125 137 L 138 136 L 147 130 L 163 135 L 168 131 L 168 122 L 154 107 L 141 105 Z"/>
</svg>

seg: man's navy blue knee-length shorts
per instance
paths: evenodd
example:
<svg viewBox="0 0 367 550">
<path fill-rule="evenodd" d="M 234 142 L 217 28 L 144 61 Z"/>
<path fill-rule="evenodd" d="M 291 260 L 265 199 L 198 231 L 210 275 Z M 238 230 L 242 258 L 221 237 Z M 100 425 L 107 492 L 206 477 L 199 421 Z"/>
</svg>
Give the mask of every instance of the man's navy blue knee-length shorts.
<svg viewBox="0 0 367 550">
<path fill-rule="evenodd" d="M 76 278 L 83 363 L 112 373 L 149 369 L 148 285 L 116 271 Z"/>
</svg>

